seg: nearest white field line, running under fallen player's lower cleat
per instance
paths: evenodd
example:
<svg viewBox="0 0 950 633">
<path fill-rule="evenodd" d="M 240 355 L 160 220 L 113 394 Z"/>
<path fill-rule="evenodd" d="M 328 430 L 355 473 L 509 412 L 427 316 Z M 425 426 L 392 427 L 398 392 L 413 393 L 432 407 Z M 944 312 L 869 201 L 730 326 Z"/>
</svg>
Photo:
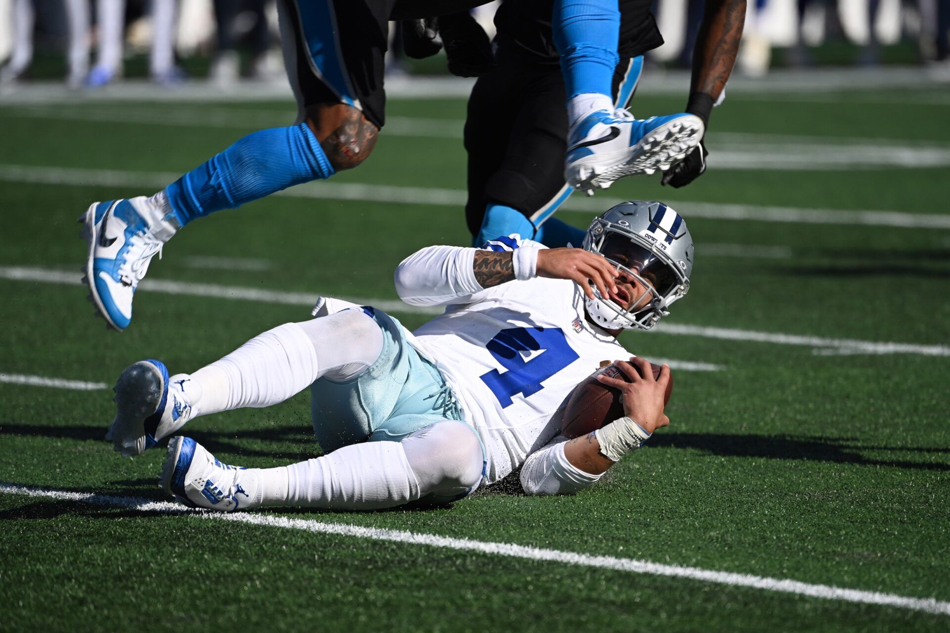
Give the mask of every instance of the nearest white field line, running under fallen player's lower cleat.
<svg viewBox="0 0 950 633">
<path fill-rule="evenodd" d="M 816 585 L 781 578 L 733 573 L 730 571 L 716 571 L 713 569 L 682 567 L 678 565 L 662 565 L 660 563 L 651 563 L 649 561 L 633 558 L 594 556 L 573 551 L 561 551 L 560 549 L 531 548 L 512 543 L 475 541 L 467 538 L 439 536 L 437 534 L 422 532 L 387 530 L 385 528 L 364 528 L 362 526 L 343 523 L 322 523 L 320 521 L 314 521 L 313 519 L 288 518 L 285 516 L 252 512 L 224 514 L 220 512 L 189 511 L 184 510 L 178 504 L 165 501 L 150 501 L 148 499 L 129 496 L 109 496 L 95 493 L 71 493 L 48 489 L 31 489 L 22 486 L 11 486 L 9 484 L 0 484 L 0 493 L 21 494 L 63 501 L 78 501 L 99 506 L 119 507 L 137 512 L 197 515 L 210 520 L 233 521 L 268 528 L 309 531 L 317 534 L 336 534 L 339 536 L 352 536 L 354 538 L 367 538 L 374 541 L 388 541 L 390 543 L 421 545 L 432 548 L 474 551 L 494 556 L 509 556 L 530 561 L 561 563 L 578 567 L 612 569 L 652 576 L 687 578 L 689 580 L 706 583 L 764 589 L 766 591 L 790 593 L 807 596 L 809 598 L 823 598 L 826 600 L 837 600 L 864 605 L 897 606 L 913 611 L 922 611 L 924 613 L 950 615 L 950 603 L 939 601 L 935 598 L 911 598 L 892 593 L 881 593 L 879 591 L 864 591 L 862 589 L 848 589 L 841 586 Z"/>
</svg>

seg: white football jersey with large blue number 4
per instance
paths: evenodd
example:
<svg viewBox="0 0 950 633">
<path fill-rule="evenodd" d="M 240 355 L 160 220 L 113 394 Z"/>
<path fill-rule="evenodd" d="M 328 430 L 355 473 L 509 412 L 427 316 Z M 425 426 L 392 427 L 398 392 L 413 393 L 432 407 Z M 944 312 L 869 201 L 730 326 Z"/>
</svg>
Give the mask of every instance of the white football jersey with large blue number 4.
<svg viewBox="0 0 950 633">
<path fill-rule="evenodd" d="M 546 248 L 517 235 L 489 245 Z M 481 434 L 486 483 L 519 468 L 559 434 L 555 414 L 600 362 L 631 356 L 587 322 L 583 299 L 573 281 L 511 281 L 467 296 L 409 337 L 438 365 L 464 419 Z"/>
</svg>

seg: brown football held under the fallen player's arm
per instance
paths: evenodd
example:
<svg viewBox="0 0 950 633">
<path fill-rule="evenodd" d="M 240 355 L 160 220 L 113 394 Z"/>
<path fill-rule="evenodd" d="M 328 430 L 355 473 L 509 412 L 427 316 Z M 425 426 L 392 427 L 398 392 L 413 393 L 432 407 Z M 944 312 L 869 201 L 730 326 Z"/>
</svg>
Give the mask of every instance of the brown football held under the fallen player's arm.
<svg viewBox="0 0 950 633">
<path fill-rule="evenodd" d="M 656 363 L 650 364 L 653 366 L 654 378 L 656 379 L 659 377 L 662 367 Z M 636 364 L 633 367 L 637 369 Z M 611 378 L 627 381 L 626 374 L 620 371 L 616 365 L 608 364 L 599 368 L 583 382 L 580 382 L 578 386 L 574 387 L 571 397 L 567 400 L 567 406 L 564 408 L 564 417 L 561 419 L 561 434 L 565 438 L 580 438 L 580 436 L 597 431 L 604 424 L 623 418 L 623 403 L 620 402 L 619 389 L 600 383 L 597 380 L 599 374 L 606 374 Z M 672 393 L 673 375 L 671 374 L 670 382 L 666 385 L 664 402 L 669 403 Z"/>
</svg>

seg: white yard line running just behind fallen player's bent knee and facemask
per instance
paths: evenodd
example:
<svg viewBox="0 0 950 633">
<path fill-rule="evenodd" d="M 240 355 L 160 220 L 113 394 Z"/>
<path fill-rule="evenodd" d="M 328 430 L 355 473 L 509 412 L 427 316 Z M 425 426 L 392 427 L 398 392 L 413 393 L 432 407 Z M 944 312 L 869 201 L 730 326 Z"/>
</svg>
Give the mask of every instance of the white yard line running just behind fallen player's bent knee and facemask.
<svg viewBox="0 0 950 633">
<path fill-rule="evenodd" d="M 66 270 L 39 269 L 25 266 L 0 266 L 0 279 L 38 282 L 41 284 L 66 284 L 72 286 L 80 283 L 81 275 L 79 273 L 67 272 Z M 310 292 L 282 292 L 279 290 L 243 288 L 240 286 L 218 286 L 215 284 L 196 284 L 158 279 L 142 280 L 139 289 L 151 292 L 162 292 L 164 294 L 238 299 L 307 307 L 313 307 L 317 298 L 320 296 Z M 440 307 L 409 306 L 402 301 L 394 299 L 340 298 L 361 306 L 378 307 L 387 312 L 403 314 L 441 314 L 443 312 L 443 309 Z M 950 346 L 947 345 L 878 343 L 855 339 L 826 339 L 818 336 L 755 332 L 746 329 L 729 329 L 726 327 L 659 323 L 650 330 L 650 332 L 699 336 L 711 339 L 725 339 L 728 341 L 804 345 L 814 347 L 815 353 L 826 353 L 825 350 L 827 349 L 837 349 L 851 354 L 921 354 L 923 356 L 950 356 Z M 676 368 L 672 364 L 670 366 L 671 368 Z"/>
</svg>

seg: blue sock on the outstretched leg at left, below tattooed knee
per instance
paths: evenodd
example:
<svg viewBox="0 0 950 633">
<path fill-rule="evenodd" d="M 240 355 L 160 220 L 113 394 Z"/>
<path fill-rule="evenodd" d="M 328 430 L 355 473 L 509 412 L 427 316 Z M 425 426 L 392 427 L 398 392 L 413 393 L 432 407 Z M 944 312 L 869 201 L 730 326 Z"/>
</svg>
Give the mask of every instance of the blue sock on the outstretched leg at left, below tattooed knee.
<svg viewBox="0 0 950 633">
<path fill-rule="evenodd" d="M 180 226 L 301 182 L 333 176 L 306 123 L 249 134 L 165 188 Z"/>
</svg>

